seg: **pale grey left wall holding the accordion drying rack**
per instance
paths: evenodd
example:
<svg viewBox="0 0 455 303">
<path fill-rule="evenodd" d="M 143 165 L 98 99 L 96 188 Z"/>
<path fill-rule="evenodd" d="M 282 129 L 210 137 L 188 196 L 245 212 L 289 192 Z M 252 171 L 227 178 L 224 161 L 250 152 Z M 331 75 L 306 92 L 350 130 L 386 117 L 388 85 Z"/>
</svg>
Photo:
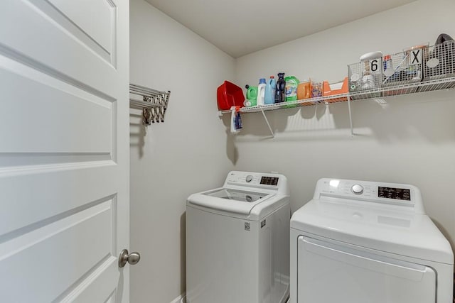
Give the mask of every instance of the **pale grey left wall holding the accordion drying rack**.
<svg viewBox="0 0 455 303">
<path fill-rule="evenodd" d="M 131 120 L 131 302 L 171 302 L 185 291 L 185 200 L 218 187 L 233 165 L 216 90 L 234 60 L 142 0 L 131 1 L 131 82 L 170 90 L 164 123 Z"/>
</svg>

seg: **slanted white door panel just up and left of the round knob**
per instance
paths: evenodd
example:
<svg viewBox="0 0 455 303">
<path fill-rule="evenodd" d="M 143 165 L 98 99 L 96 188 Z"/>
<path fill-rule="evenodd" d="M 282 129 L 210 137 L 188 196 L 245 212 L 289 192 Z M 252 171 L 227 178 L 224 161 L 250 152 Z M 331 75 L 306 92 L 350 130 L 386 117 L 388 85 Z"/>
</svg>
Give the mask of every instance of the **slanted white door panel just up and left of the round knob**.
<svg viewBox="0 0 455 303">
<path fill-rule="evenodd" d="M 81 277 L 112 261 L 110 258 L 115 259 L 112 206 L 109 200 L 4 243 L 0 272 L 8 277 L 2 287 L 9 291 L 2 302 L 26 302 L 29 293 L 34 302 L 51 302 L 55 293 L 65 292 L 68 285 L 76 287 L 75 282 Z M 85 244 L 86 253 L 78 247 L 81 243 Z M 116 285 L 111 285 L 109 293 Z"/>
</svg>

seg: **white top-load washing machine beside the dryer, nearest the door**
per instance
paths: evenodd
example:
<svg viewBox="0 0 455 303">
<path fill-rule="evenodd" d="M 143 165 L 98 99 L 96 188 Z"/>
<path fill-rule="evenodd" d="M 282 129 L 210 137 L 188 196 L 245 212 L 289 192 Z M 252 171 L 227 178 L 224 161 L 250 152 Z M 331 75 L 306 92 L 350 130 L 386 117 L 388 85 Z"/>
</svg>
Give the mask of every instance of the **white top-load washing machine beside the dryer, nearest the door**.
<svg viewBox="0 0 455 303">
<path fill-rule="evenodd" d="M 289 297 L 284 175 L 229 172 L 186 202 L 188 303 L 280 303 Z"/>
</svg>

